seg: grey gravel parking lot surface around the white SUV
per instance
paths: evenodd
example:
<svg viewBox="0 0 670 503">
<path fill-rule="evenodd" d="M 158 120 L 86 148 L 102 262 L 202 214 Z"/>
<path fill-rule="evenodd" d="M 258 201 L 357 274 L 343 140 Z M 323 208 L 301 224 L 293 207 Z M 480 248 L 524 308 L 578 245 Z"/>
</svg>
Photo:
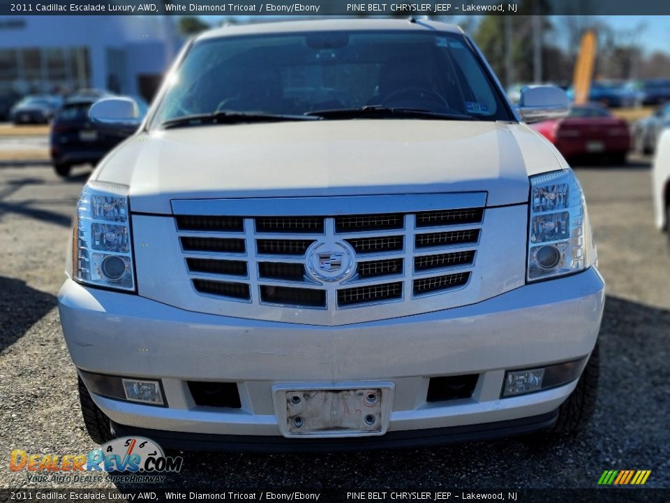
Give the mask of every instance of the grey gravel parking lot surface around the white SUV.
<svg viewBox="0 0 670 503">
<path fill-rule="evenodd" d="M 608 298 L 597 412 L 586 432 L 553 441 L 505 439 L 439 449 L 324 455 L 184 453 L 170 486 L 202 489 L 593 488 L 605 469 L 650 469 L 670 488 L 670 247 L 653 228 L 649 163 L 589 166 L 586 191 Z M 45 164 L 0 161 L 0 486 L 12 449 L 87 453 L 74 367 L 57 313 L 70 220 L 89 170 L 67 181 Z M 67 485 L 66 485 L 67 486 Z M 71 485 L 70 485 L 71 486 Z M 87 484 L 91 486 L 91 484 Z M 103 482 L 101 487 L 112 487 Z"/>
</svg>

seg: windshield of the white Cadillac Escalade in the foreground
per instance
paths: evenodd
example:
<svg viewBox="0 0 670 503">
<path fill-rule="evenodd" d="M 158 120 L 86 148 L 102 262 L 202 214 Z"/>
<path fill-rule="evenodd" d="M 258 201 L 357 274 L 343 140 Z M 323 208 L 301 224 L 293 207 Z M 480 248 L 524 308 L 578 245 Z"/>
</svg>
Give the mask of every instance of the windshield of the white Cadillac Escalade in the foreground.
<svg viewBox="0 0 670 503">
<path fill-rule="evenodd" d="M 170 82 L 151 127 L 221 111 L 295 117 L 373 105 L 514 120 L 460 34 L 329 31 L 205 39 Z"/>
</svg>

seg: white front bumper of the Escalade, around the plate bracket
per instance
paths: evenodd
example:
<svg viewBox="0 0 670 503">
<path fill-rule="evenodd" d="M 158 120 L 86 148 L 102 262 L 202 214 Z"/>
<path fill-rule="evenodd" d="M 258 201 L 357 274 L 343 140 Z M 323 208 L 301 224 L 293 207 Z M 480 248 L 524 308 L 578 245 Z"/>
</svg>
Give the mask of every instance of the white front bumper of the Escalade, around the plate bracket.
<svg viewBox="0 0 670 503">
<path fill-rule="evenodd" d="M 588 356 L 603 306 L 604 283 L 595 268 L 474 305 L 336 327 L 188 312 L 69 279 L 59 293 L 77 367 L 163 382 L 168 407 L 93 395 L 114 423 L 156 434 L 242 437 L 280 435 L 271 393 L 278 383 L 392 381 L 387 435 L 551 414 L 576 381 L 501 400 L 505 370 Z M 472 373 L 479 379 L 471 398 L 426 402 L 430 377 Z M 236 382 L 241 408 L 198 406 L 187 381 Z"/>
</svg>

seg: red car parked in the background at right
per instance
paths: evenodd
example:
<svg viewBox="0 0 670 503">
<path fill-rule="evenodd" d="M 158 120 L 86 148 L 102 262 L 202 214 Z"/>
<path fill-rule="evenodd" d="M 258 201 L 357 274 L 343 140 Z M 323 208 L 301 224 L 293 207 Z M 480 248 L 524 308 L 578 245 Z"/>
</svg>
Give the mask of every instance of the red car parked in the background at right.
<svg viewBox="0 0 670 503">
<path fill-rule="evenodd" d="M 566 159 L 588 156 L 623 164 L 631 146 L 627 122 L 600 105 L 573 105 L 564 119 L 531 127 L 556 145 Z"/>
</svg>

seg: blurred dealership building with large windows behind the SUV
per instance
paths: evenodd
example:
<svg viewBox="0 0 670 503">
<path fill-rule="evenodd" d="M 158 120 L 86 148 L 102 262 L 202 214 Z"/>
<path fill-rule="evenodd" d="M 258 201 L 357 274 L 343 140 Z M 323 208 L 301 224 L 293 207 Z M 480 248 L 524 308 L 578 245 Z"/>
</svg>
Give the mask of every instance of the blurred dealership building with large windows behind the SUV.
<svg viewBox="0 0 670 503">
<path fill-rule="evenodd" d="M 0 96 L 109 89 L 150 99 L 181 46 L 171 16 L 0 18 Z"/>
</svg>

